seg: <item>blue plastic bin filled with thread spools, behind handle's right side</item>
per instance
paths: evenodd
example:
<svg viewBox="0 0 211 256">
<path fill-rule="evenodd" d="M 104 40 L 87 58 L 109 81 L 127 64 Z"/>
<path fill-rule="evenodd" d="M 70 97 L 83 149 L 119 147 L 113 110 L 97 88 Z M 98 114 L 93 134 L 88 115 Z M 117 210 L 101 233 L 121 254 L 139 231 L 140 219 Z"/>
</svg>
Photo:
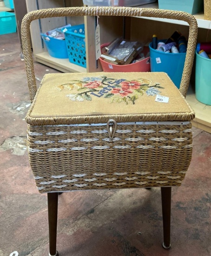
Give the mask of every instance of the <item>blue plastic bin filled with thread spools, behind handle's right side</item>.
<svg viewBox="0 0 211 256">
<path fill-rule="evenodd" d="M 160 42 L 165 40 L 159 40 Z M 151 72 L 165 72 L 169 75 L 173 83 L 179 88 L 185 65 L 186 53 L 172 54 L 163 53 L 150 48 Z"/>
</svg>

